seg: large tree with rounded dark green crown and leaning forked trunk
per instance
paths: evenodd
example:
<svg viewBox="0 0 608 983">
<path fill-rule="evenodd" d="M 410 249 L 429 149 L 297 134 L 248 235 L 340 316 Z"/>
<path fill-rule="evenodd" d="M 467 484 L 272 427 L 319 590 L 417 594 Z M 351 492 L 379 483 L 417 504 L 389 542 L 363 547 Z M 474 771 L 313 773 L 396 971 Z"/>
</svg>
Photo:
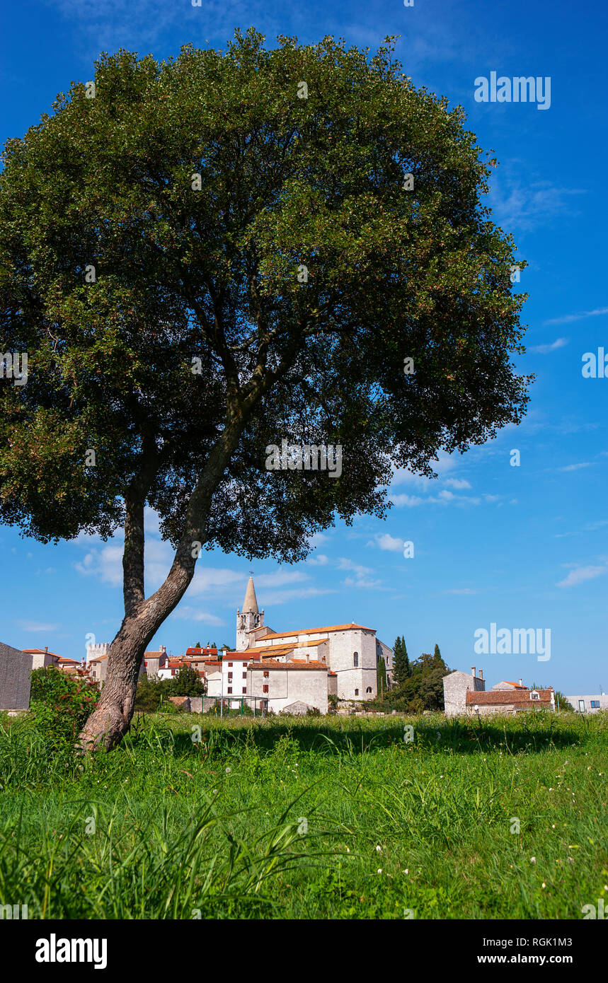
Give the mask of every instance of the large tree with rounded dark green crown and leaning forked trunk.
<svg viewBox="0 0 608 983">
<path fill-rule="evenodd" d="M 513 240 L 463 111 L 391 39 L 277 40 L 103 55 L 4 150 L 0 337 L 29 377 L 0 387 L 0 518 L 124 528 L 85 745 L 127 729 L 200 549 L 302 559 L 336 516 L 385 514 L 392 468 L 432 476 L 524 412 Z M 267 470 L 281 439 L 340 444 L 341 476 Z M 147 504 L 175 549 L 148 597 Z"/>
</svg>

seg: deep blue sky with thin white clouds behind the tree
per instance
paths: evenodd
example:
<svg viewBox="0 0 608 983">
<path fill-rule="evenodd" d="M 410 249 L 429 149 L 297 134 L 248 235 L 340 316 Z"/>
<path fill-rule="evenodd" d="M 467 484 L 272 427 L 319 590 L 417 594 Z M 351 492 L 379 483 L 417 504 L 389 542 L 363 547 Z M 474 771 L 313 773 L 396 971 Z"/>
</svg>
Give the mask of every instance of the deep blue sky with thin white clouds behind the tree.
<svg viewBox="0 0 608 983">
<path fill-rule="evenodd" d="M 21 136 L 72 80 L 87 81 L 99 51 L 163 58 L 193 42 L 225 47 L 235 27 L 326 33 L 375 49 L 399 34 L 396 54 L 417 86 L 447 95 L 500 162 L 489 203 L 527 260 L 516 289 L 529 295 L 522 372 L 533 372 L 518 428 L 464 456 L 442 457 L 434 482 L 395 475 L 386 522 L 361 517 L 318 537 L 305 563 L 256 561 L 258 600 L 282 630 L 357 621 L 410 658 L 438 642 L 449 665 L 484 668 L 490 683 L 523 677 L 567 693 L 608 689 L 608 378 L 583 378 L 581 357 L 608 352 L 606 86 L 608 15 L 589 0 L 46 0 L 7 5 L 0 42 L 1 139 Z M 551 105 L 474 99 L 474 80 L 551 78 Z M 520 466 L 510 464 L 511 450 Z M 147 591 L 171 551 L 148 516 Z M 414 557 L 402 555 L 404 540 Z M 0 529 L 2 640 L 80 659 L 86 636 L 111 641 L 122 617 L 120 539 L 56 547 Z M 234 612 L 250 563 L 203 553 L 195 580 L 152 647 L 178 654 L 197 640 L 233 643 Z M 475 655 L 478 628 L 551 629 L 551 659 Z"/>
</svg>

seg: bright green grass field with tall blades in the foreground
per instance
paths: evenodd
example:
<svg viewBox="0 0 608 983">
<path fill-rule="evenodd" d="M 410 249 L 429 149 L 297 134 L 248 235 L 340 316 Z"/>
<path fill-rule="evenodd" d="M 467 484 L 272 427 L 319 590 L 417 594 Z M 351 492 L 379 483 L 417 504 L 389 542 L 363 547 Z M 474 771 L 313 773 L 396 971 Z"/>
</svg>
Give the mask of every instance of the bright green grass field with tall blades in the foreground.
<svg viewBox="0 0 608 983">
<path fill-rule="evenodd" d="M 607 715 L 155 715 L 83 767 L 4 719 L 0 901 L 30 918 L 579 919 L 608 897 L 607 750 Z"/>
</svg>

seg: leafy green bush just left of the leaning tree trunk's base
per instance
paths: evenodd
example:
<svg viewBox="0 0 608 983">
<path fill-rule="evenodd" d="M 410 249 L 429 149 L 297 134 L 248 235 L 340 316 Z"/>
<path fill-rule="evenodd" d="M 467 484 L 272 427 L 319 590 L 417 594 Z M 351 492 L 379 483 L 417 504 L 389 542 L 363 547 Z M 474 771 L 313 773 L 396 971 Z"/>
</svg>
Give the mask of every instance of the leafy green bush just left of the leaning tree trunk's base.
<svg viewBox="0 0 608 983">
<path fill-rule="evenodd" d="M 98 699 L 96 686 L 69 676 L 54 665 L 33 669 L 31 673 L 31 719 L 55 751 L 74 747 Z"/>
</svg>

